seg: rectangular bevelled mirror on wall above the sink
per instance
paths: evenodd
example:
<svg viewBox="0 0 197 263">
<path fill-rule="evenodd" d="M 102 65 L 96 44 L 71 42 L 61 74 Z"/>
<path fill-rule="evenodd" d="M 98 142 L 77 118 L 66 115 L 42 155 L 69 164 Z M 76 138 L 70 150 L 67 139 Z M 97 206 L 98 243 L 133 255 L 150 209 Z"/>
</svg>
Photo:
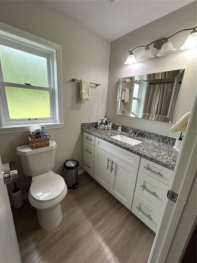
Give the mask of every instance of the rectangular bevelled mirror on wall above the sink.
<svg viewBox="0 0 197 263">
<path fill-rule="evenodd" d="M 172 123 L 184 71 L 119 78 L 116 114 Z"/>
</svg>

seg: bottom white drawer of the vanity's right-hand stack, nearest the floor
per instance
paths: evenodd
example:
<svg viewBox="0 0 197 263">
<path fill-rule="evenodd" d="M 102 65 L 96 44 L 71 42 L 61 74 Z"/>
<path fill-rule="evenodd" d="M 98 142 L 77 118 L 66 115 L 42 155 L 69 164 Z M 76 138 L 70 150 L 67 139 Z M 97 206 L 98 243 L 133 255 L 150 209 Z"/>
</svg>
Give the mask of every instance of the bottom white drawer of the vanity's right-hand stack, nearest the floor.
<svg viewBox="0 0 197 263">
<path fill-rule="evenodd" d="M 157 231 L 162 212 L 136 193 L 134 194 L 131 212 L 154 232 Z"/>
</svg>

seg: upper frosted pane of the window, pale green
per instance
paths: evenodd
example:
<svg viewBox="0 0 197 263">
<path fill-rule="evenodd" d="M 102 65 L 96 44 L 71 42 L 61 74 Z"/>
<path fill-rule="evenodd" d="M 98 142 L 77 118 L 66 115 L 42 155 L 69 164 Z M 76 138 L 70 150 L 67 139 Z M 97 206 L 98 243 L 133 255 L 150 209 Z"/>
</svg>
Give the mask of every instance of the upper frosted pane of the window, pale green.
<svg viewBox="0 0 197 263">
<path fill-rule="evenodd" d="M 48 87 L 47 59 L 12 47 L 0 45 L 5 82 Z"/>
</svg>

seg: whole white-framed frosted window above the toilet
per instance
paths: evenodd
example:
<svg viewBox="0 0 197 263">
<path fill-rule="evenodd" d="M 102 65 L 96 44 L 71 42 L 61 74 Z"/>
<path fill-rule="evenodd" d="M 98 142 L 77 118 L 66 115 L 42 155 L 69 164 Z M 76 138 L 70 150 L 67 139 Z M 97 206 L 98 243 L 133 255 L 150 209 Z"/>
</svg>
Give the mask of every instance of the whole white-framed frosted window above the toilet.
<svg viewBox="0 0 197 263">
<path fill-rule="evenodd" d="M 61 46 L 16 30 L 0 30 L 0 133 L 62 127 Z"/>
</svg>

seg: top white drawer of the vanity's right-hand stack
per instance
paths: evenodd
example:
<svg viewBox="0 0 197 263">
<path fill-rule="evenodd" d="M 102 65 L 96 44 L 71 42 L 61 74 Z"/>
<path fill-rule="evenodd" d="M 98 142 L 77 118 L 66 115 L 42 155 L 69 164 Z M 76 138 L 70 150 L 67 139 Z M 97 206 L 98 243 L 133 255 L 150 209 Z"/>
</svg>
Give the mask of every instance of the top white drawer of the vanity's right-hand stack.
<svg viewBox="0 0 197 263">
<path fill-rule="evenodd" d="M 139 170 L 162 183 L 170 185 L 173 171 L 160 164 L 141 158 Z"/>
</svg>

